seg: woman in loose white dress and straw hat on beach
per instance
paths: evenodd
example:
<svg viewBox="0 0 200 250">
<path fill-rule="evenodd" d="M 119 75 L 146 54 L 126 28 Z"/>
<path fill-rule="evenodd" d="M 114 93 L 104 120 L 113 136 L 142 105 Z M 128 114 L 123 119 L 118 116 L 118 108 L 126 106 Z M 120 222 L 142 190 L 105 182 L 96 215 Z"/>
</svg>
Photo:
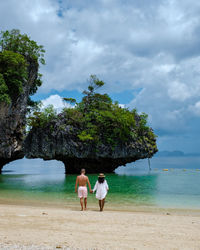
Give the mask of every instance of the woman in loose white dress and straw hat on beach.
<svg viewBox="0 0 200 250">
<path fill-rule="evenodd" d="M 93 193 L 96 191 L 96 198 L 99 200 L 100 212 L 103 211 L 105 198 L 108 192 L 108 184 L 105 180 L 105 175 L 103 173 L 99 174 L 98 181 L 96 182 Z"/>
</svg>

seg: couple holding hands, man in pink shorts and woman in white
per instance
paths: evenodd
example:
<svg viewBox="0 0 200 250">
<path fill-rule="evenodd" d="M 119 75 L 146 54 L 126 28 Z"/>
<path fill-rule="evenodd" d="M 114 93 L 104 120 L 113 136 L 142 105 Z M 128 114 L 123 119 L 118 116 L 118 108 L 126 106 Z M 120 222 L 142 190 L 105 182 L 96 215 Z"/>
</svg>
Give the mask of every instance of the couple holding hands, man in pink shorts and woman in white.
<svg viewBox="0 0 200 250">
<path fill-rule="evenodd" d="M 77 176 L 75 184 L 75 192 L 77 193 L 78 191 L 78 197 L 80 198 L 81 211 L 87 209 L 87 184 L 89 186 L 90 193 L 94 193 L 96 191 L 96 198 L 99 200 L 99 208 L 100 212 L 102 212 L 104 208 L 105 198 L 109 189 L 107 181 L 105 180 L 105 175 L 102 173 L 99 174 L 98 180 L 92 190 L 89 178 L 85 175 L 85 169 L 81 169 L 81 174 Z"/>
</svg>

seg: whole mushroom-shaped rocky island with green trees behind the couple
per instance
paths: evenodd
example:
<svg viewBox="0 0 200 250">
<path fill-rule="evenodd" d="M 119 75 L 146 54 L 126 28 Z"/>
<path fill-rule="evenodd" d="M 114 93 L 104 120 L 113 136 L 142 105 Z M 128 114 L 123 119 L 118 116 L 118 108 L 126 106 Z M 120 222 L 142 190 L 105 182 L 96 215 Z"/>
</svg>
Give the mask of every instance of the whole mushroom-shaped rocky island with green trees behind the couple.
<svg viewBox="0 0 200 250">
<path fill-rule="evenodd" d="M 72 174 L 81 168 L 88 173 L 111 173 L 126 163 L 151 158 L 157 152 L 156 136 L 146 125 L 147 116 L 96 93 L 103 84 L 91 76 L 85 96 L 73 108 L 56 115 L 49 107 L 30 117 L 26 157 L 62 161 L 65 172 Z"/>
</svg>

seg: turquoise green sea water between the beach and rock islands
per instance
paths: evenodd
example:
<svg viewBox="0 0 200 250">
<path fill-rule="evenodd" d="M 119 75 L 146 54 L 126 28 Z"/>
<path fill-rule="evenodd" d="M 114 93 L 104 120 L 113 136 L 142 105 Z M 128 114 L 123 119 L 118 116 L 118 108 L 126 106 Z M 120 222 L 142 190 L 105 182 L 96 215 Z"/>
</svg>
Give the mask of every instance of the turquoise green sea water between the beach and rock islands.
<svg viewBox="0 0 200 250">
<path fill-rule="evenodd" d="M 163 171 L 168 169 L 168 171 Z M 61 162 L 18 160 L 4 167 L 0 176 L 0 201 L 40 202 L 68 206 L 78 202 L 75 175 L 64 175 Z M 200 209 L 200 158 L 153 158 L 120 167 L 107 174 L 111 207 L 149 206 Z M 97 175 L 88 175 L 92 186 Z M 88 201 L 96 203 L 94 195 Z"/>
</svg>

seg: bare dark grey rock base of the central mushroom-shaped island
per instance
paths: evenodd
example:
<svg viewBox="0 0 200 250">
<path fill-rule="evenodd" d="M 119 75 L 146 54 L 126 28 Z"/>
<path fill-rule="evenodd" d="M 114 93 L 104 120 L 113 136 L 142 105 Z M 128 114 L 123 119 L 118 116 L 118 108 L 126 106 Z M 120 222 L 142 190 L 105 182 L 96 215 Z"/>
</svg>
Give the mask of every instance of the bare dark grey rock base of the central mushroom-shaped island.
<svg viewBox="0 0 200 250">
<path fill-rule="evenodd" d="M 112 147 L 106 144 L 83 142 L 77 137 L 79 128 L 67 124 L 63 114 L 44 128 L 33 128 L 25 140 L 27 158 L 59 160 L 66 173 L 77 174 L 81 168 L 87 173 L 111 173 L 117 167 L 138 159 L 151 158 L 157 152 L 156 140 L 148 135 L 120 142 Z"/>
</svg>

